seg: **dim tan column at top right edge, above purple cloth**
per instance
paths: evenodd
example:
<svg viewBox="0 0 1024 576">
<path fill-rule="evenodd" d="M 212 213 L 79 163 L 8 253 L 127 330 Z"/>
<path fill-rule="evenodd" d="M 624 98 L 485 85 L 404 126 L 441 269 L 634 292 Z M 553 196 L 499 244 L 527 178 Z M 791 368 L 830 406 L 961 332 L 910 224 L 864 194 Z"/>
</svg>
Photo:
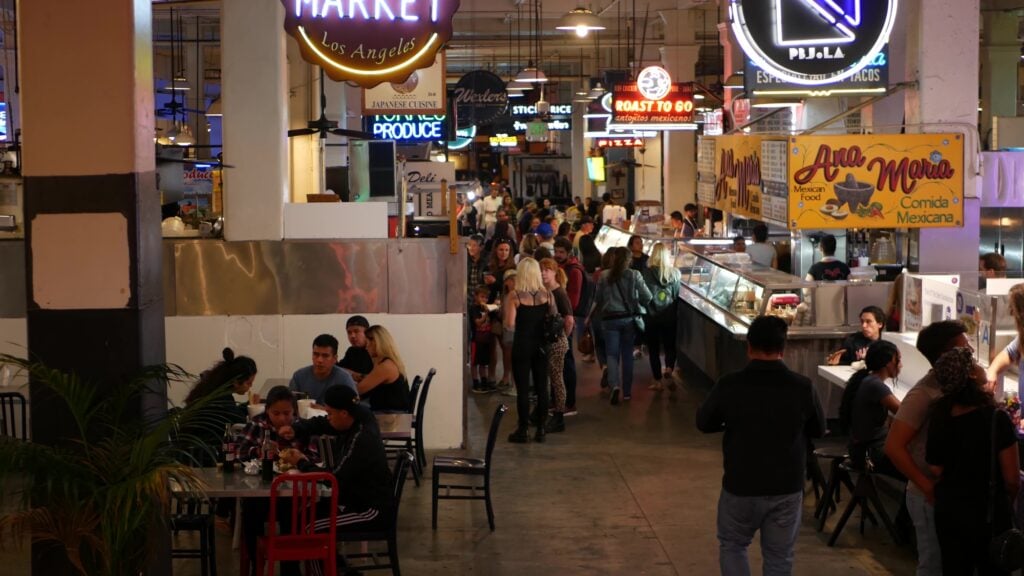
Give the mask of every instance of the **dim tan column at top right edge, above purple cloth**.
<svg viewBox="0 0 1024 576">
<path fill-rule="evenodd" d="M 981 137 L 990 148 L 992 117 L 1017 116 L 1017 71 L 1021 42 L 1020 16 L 1013 12 L 983 12 L 981 46 Z"/>
</svg>

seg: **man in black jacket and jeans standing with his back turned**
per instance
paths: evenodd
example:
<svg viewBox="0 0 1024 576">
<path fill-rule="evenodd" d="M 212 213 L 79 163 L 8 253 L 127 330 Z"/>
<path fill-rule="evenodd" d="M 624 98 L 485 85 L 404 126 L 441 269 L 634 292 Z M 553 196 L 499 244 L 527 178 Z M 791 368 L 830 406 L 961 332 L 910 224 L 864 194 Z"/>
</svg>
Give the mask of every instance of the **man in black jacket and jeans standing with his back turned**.
<svg viewBox="0 0 1024 576">
<path fill-rule="evenodd" d="M 712 388 L 697 428 L 725 433 L 725 475 L 718 501 L 722 574 L 750 574 L 746 547 L 761 531 L 765 574 L 793 572 L 800 531 L 808 439 L 824 433 L 811 381 L 782 362 L 786 325 L 762 316 L 746 334 L 750 364 Z"/>
</svg>

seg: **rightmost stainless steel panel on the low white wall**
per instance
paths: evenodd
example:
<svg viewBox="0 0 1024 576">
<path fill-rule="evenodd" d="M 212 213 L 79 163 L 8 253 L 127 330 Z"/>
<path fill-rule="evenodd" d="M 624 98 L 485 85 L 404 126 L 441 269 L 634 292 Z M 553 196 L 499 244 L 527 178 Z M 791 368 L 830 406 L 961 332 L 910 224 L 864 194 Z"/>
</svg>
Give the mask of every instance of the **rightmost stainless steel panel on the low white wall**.
<svg viewBox="0 0 1024 576">
<path fill-rule="evenodd" d="M 444 314 L 447 308 L 447 239 L 440 242 L 403 239 L 388 244 L 391 314 Z"/>
</svg>

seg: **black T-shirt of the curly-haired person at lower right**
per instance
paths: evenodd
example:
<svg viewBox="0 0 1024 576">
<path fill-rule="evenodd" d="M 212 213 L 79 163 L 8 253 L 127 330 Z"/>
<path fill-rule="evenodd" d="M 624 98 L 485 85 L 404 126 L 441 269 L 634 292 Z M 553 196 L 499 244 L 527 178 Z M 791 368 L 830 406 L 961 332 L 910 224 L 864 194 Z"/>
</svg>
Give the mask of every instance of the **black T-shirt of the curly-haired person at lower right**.
<svg viewBox="0 0 1024 576">
<path fill-rule="evenodd" d="M 951 411 L 949 400 L 939 400 L 928 425 L 925 459 L 929 464 L 942 466 L 942 478 L 935 486 L 936 498 L 985 502 L 989 474 L 994 471 L 990 469 L 992 418 L 995 418 L 996 452 L 1017 444 L 1017 433 L 1010 416 L 993 407 L 978 408 L 959 416 L 953 416 Z M 1006 494 L 1001 478 L 995 487 L 998 494 Z"/>
</svg>

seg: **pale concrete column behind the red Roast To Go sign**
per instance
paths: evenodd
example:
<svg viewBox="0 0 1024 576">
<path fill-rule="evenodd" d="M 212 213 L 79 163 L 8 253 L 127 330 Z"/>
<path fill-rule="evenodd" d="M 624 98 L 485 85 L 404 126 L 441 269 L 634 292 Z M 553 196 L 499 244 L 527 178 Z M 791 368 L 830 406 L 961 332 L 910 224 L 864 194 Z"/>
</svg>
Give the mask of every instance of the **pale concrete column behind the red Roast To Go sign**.
<svg viewBox="0 0 1024 576">
<path fill-rule="evenodd" d="M 695 78 L 700 46 L 695 39 L 693 14 L 688 9 L 658 12 L 665 20 L 662 65 L 676 82 L 691 82 Z M 662 136 L 662 166 L 665 190 L 660 200 L 666 213 L 682 210 L 687 202 L 696 202 L 696 133 L 678 130 L 665 132 Z M 647 189 L 649 193 L 649 179 Z"/>
</svg>

